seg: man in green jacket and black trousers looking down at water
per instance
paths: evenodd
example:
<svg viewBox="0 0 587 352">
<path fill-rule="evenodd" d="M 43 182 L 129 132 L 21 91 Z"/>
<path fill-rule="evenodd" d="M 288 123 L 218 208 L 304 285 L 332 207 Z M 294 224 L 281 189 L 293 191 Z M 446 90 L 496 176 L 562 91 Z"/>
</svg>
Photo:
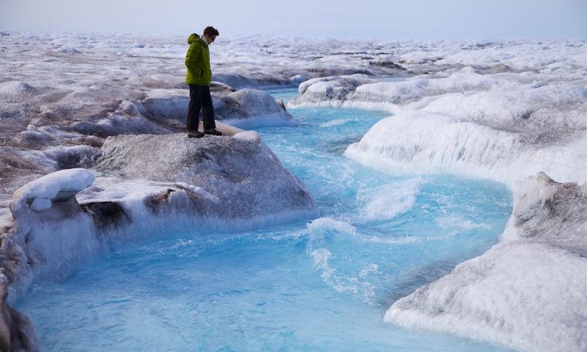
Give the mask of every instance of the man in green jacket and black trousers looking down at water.
<svg viewBox="0 0 587 352">
<path fill-rule="evenodd" d="M 214 122 L 214 108 L 210 96 L 210 81 L 212 70 L 210 69 L 210 51 L 208 45 L 212 44 L 219 36 L 218 30 L 213 27 L 204 29 L 204 36 L 196 33 L 188 38 L 189 49 L 186 54 L 186 84 L 189 84 L 189 108 L 188 108 L 188 137 L 201 138 L 205 134 L 221 136 L 216 131 Z M 202 123 L 204 133 L 197 131 L 199 124 L 200 110 L 203 110 Z"/>
</svg>

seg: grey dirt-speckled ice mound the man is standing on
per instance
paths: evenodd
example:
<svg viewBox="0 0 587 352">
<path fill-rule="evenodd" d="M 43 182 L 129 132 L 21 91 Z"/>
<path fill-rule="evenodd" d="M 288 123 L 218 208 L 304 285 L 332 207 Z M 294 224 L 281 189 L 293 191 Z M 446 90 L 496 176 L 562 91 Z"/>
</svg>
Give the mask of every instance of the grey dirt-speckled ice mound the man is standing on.
<svg viewBox="0 0 587 352">
<path fill-rule="evenodd" d="M 256 132 L 202 139 L 183 133 L 113 137 L 104 144 L 97 167 L 104 176 L 142 182 L 142 196 L 133 188 L 132 197 L 142 199 L 149 208 L 145 212 L 180 213 L 229 228 L 315 212 L 302 182 Z M 117 202 L 131 197 L 130 191 L 122 193 Z"/>
</svg>

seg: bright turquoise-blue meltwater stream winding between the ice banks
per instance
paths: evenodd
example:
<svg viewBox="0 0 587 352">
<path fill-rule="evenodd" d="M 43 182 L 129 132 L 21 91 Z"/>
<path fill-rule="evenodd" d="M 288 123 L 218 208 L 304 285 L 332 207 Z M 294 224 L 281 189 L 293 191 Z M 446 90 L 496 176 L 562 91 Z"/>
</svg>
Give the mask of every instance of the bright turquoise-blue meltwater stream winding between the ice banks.
<svg viewBox="0 0 587 352">
<path fill-rule="evenodd" d="M 291 99 L 294 90 L 272 92 Z M 497 242 L 502 185 L 390 176 L 342 154 L 388 114 L 290 111 L 256 128 L 315 196 L 318 219 L 239 233 L 167 233 L 34 284 L 16 308 L 48 351 L 503 351 L 382 322 L 390 304 Z"/>
</svg>

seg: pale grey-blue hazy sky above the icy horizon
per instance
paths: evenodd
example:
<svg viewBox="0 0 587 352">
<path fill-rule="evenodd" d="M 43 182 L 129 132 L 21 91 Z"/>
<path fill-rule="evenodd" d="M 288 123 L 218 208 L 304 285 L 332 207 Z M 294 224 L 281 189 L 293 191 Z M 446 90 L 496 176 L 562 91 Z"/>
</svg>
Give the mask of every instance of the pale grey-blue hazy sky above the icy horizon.
<svg viewBox="0 0 587 352">
<path fill-rule="evenodd" d="M 335 38 L 587 38 L 587 0 L 0 0 L 0 30 Z"/>
</svg>

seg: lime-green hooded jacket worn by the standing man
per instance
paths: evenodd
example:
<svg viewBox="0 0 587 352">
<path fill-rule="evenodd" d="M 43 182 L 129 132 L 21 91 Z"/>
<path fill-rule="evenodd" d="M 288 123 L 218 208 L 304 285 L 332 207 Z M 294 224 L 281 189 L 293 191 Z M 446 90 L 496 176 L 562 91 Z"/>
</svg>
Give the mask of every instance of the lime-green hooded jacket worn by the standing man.
<svg viewBox="0 0 587 352">
<path fill-rule="evenodd" d="M 210 85 L 212 70 L 210 69 L 210 50 L 204 39 L 196 33 L 188 38 L 189 49 L 186 53 L 186 84 Z"/>
</svg>

